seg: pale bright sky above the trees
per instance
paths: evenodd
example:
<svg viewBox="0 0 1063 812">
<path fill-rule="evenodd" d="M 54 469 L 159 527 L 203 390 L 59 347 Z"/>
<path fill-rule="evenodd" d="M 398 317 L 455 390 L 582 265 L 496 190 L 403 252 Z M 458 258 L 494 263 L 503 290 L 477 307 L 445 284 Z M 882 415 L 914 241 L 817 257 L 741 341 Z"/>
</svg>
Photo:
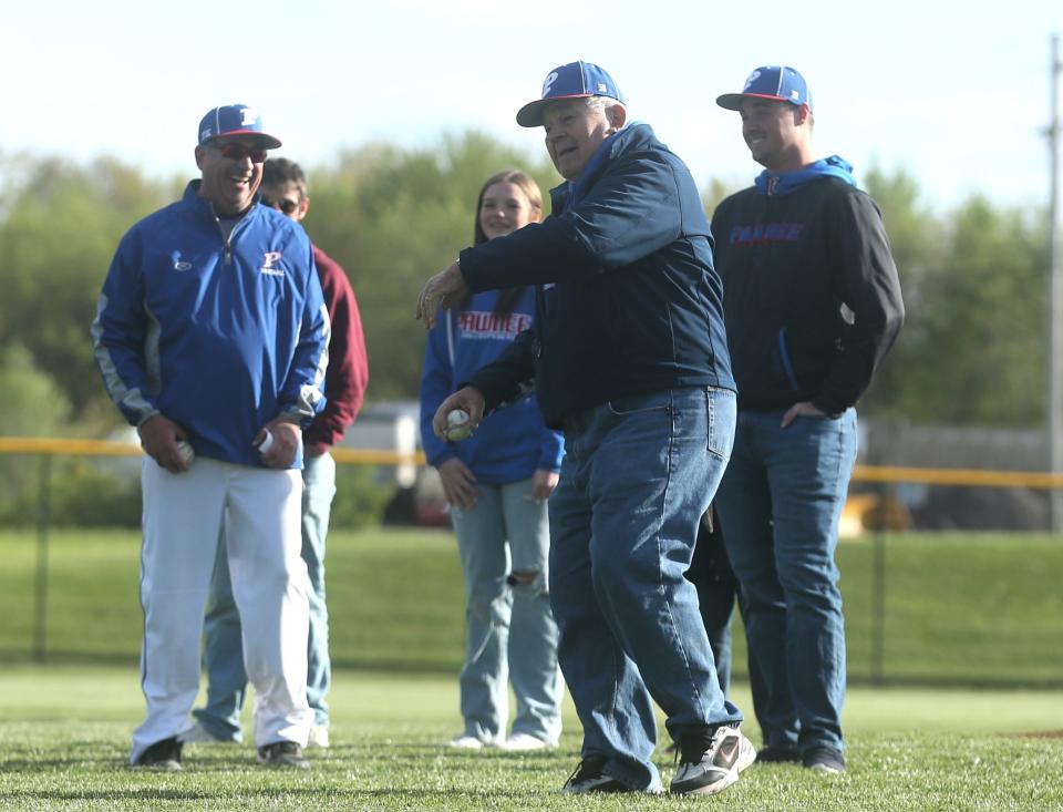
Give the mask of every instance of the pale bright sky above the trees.
<svg viewBox="0 0 1063 812">
<path fill-rule="evenodd" d="M 816 146 L 906 168 L 947 209 L 984 193 L 1047 195 L 1050 37 L 1063 2 L 712 0 L 39 0 L 6 3 L 0 157 L 118 156 L 196 174 L 215 104 L 257 106 L 279 152 L 308 166 L 371 140 L 437 143 L 468 127 L 540 154 L 514 121 L 554 66 L 605 66 L 632 117 L 699 183 L 757 167 L 715 96 L 761 64 L 808 80 Z"/>
</svg>

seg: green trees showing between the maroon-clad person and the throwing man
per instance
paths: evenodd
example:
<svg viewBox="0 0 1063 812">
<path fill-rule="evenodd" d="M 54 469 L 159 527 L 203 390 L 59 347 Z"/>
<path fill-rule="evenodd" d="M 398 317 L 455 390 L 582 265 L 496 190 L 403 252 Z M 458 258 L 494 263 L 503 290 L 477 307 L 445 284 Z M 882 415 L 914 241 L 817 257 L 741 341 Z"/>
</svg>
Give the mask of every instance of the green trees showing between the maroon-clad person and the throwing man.
<svg viewBox="0 0 1063 812">
<path fill-rule="evenodd" d="M 557 183 L 545 158 L 529 160 L 476 132 L 423 150 L 369 145 L 311 173 L 307 230 L 351 278 L 370 357 L 370 398 L 416 398 L 424 354 L 417 294 L 472 244 L 479 187 L 505 168 L 530 174 L 544 196 Z M 547 199 L 544 206 L 549 212 Z"/>
</svg>

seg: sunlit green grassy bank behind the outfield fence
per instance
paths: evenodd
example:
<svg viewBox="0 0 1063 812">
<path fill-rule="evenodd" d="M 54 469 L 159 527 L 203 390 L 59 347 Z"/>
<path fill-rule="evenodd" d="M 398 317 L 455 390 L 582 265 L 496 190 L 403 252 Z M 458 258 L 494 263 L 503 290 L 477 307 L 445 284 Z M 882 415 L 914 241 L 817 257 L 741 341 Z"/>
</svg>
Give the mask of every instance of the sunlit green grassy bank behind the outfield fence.
<svg viewBox="0 0 1063 812">
<path fill-rule="evenodd" d="M 1038 534 L 902 534 L 881 539 L 880 676 L 894 683 L 1063 687 L 1063 539 Z M 49 547 L 50 661 L 135 662 L 140 537 L 55 531 Z M 32 533 L 0 532 L 0 657 L 33 649 Z M 849 676 L 876 677 L 876 542 L 838 551 Z M 362 669 L 453 672 L 463 647 L 463 589 L 444 531 L 332 533 L 332 652 Z M 735 674 L 745 672 L 741 626 Z"/>
</svg>

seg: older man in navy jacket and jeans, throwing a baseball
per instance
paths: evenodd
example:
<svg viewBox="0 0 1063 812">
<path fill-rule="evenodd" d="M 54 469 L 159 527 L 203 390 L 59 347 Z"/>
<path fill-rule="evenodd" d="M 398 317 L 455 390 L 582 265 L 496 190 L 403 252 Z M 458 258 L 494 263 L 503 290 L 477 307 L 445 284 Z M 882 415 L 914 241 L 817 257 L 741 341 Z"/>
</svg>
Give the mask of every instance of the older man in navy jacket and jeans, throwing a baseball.
<svg viewBox="0 0 1063 812">
<path fill-rule="evenodd" d="M 566 183 L 553 214 L 461 253 L 419 315 L 466 289 L 538 285 L 533 329 L 436 412 L 529 391 L 566 456 L 550 500 L 550 599 L 561 670 L 584 727 L 565 792 L 660 791 L 652 700 L 680 765 L 671 791 L 712 794 L 752 763 L 716 681 L 694 586 L 698 523 L 731 453 L 735 394 L 712 239 L 687 166 L 599 66 L 551 71 L 517 113 L 541 125 Z"/>
</svg>

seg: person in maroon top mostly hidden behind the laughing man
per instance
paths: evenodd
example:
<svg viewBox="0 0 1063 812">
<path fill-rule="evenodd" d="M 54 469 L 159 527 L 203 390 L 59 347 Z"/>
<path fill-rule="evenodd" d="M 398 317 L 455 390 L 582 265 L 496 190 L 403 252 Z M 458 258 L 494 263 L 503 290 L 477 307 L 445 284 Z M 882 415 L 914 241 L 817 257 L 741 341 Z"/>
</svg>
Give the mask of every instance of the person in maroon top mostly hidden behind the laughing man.
<svg viewBox="0 0 1063 812">
<path fill-rule="evenodd" d="M 287 158 L 269 158 L 262 168 L 259 203 L 278 209 L 296 223 L 302 222 L 310 208 L 310 195 L 299 164 Z M 324 381 L 328 403 L 302 433 L 302 559 L 310 576 L 307 699 L 313 711 L 308 744 L 329 747 L 329 706 L 324 697 L 332 669 L 324 592 L 324 546 L 336 495 L 336 462 L 329 449 L 343 436 L 344 429 L 353 422 L 362 405 L 369 382 L 369 362 L 358 301 L 347 274 L 318 246 L 313 246 L 313 261 L 332 322 L 332 336 Z M 197 723 L 183 737 L 186 742 L 242 739 L 240 710 L 247 676 L 240 651 L 240 617 L 233 599 L 225 549 L 224 543 L 218 546 L 206 616 L 207 701 L 203 708 L 193 711 Z"/>
</svg>

